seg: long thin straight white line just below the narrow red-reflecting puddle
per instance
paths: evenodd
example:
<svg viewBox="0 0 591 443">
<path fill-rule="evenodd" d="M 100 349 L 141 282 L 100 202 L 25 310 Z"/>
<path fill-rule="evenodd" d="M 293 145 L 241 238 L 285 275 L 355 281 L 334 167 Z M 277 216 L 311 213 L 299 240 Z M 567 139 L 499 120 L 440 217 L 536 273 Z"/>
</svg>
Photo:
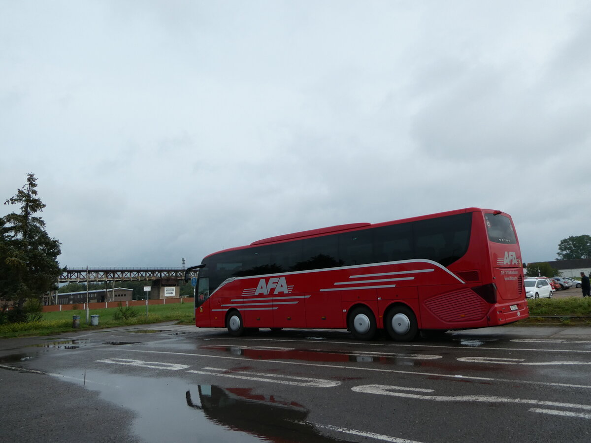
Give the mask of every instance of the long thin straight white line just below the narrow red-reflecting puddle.
<svg viewBox="0 0 591 443">
<path fill-rule="evenodd" d="M 111 349 L 107 348 L 106 350 L 111 350 L 113 352 L 136 352 L 136 353 L 151 353 L 151 354 L 168 354 L 168 355 L 176 355 L 176 356 L 188 356 L 188 357 L 206 357 L 209 359 L 222 359 L 222 360 L 240 360 L 240 361 L 248 361 L 252 363 L 252 359 L 248 359 L 245 357 L 229 357 L 229 356 L 212 356 L 210 354 L 192 354 L 188 352 L 170 352 L 170 351 L 148 351 L 144 349 L 132 349 L 132 348 L 125 348 L 122 349 Z M 336 369 L 347 369 L 352 371 L 371 371 L 371 372 L 382 372 L 382 373 L 389 373 L 389 374 L 405 374 L 405 375 L 416 375 L 416 376 L 428 376 L 428 377 L 440 377 L 440 378 L 459 378 L 466 380 L 476 380 L 482 382 L 501 382 L 501 383 L 522 383 L 524 385 L 538 385 L 538 386 L 554 386 L 554 387 L 580 387 L 583 389 L 591 389 L 591 385 L 570 385 L 569 383 L 552 383 L 552 382 L 535 382 L 533 380 L 514 380 L 514 379 L 496 379 L 492 377 L 476 377 L 476 376 L 468 376 L 468 375 L 458 375 L 458 374 L 437 374 L 431 372 L 414 372 L 414 371 L 403 371 L 398 369 L 380 369 L 375 367 L 359 367 L 359 366 L 346 366 L 346 365 L 339 365 L 339 364 L 319 364 L 319 363 L 301 363 L 300 361 L 294 360 L 264 360 L 265 363 L 277 363 L 277 364 L 288 364 L 290 366 L 310 366 L 310 367 L 330 367 Z"/>
</svg>

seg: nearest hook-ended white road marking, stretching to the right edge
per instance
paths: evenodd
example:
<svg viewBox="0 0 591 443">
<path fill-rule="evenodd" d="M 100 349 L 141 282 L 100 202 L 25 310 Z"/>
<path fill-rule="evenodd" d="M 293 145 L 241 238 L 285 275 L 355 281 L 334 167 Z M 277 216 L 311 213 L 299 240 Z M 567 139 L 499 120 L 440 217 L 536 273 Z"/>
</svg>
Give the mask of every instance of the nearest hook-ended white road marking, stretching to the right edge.
<svg viewBox="0 0 591 443">
<path fill-rule="evenodd" d="M 408 388 L 404 389 L 408 390 Z M 413 398 L 418 400 L 432 400 L 435 402 L 517 403 L 525 405 L 554 406 L 556 408 L 583 409 L 584 411 L 591 411 L 591 405 L 579 405 L 577 403 L 548 402 L 544 400 L 498 397 L 493 395 L 419 395 L 407 392 L 396 392 L 397 390 L 400 390 L 399 386 L 388 385 L 353 386 L 351 390 L 353 392 L 362 392 L 366 394 L 389 395 L 395 397 Z"/>
</svg>

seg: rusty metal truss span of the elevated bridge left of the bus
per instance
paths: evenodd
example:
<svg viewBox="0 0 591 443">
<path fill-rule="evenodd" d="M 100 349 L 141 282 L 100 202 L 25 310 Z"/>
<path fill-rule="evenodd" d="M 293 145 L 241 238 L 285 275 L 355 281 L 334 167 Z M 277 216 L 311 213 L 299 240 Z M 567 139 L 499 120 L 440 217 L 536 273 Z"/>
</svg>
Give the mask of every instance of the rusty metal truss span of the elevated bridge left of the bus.
<svg viewBox="0 0 591 443">
<path fill-rule="evenodd" d="M 60 283 L 125 282 L 125 281 L 184 281 L 184 268 L 66 268 Z M 190 277 L 197 271 L 190 271 Z"/>
</svg>

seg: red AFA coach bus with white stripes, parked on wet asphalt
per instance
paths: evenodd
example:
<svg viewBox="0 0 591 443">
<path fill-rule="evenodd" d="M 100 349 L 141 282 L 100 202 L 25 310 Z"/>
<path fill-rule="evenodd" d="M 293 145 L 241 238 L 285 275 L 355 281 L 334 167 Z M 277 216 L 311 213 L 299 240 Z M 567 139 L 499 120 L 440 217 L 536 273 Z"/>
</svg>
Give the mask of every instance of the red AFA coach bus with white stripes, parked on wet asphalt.
<svg viewBox="0 0 591 443">
<path fill-rule="evenodd" d="M 512 323 L 529 315 L 517 234 L 508 214 L 467 208 L 385 223 L 297 232 L 206 256 L 195 297 L 198 327 L 385 329 Z"/>
</svg>

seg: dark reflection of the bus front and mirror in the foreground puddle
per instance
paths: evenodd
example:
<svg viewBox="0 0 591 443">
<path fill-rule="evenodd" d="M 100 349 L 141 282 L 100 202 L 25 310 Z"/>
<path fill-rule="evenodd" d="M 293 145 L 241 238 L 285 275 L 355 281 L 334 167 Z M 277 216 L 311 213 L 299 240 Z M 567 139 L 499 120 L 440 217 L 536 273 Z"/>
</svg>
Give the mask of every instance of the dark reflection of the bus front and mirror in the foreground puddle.
<svg viewBox="0 0 591 443">
<path fill-rule="evenodd" d="M 232 431 L 242 431 L 268 441 L 282 443 L 327 443 L 337 440 L 319 435 L 313 424 L 307 423 L 308 411 L 294 402 L 284 402 L 274 396 L 254 395 L 251 389 L 200 385 L 199 403 L 193 403 L 186 392 L 187 405 L 200 409 L 212 422 Z M 342 440 L 339 440 L 342 441 Z"/>
</svg>

